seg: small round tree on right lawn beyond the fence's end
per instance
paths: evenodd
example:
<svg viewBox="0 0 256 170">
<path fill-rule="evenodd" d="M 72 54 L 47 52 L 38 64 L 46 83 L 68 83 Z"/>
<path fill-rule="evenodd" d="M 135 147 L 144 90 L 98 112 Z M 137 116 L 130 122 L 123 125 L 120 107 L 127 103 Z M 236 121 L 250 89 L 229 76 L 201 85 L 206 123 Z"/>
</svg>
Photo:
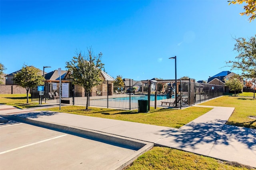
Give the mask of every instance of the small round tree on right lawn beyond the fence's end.
<svg viewBox="0 0 256 170">
<path fill-rule="evenodd" d="M 228 80 L 225 80 L 225 85 L 229 86 L 230 90 L 235 91 L 235 96 L 236 96 L 236 91 L 242 90 L 244 87 L 242 83 L 242 77 L 239 76 L 238 74 L 235 74 L 234 76 L 230 77 Z"/>
</svg>

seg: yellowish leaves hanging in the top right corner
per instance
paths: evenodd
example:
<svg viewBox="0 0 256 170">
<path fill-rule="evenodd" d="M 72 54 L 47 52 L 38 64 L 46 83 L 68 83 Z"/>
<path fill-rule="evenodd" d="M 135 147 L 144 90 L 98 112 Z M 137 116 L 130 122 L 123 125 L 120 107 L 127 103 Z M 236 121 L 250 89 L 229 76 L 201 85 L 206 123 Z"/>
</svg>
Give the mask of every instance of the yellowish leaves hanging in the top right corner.
<svg viewBox="0 0 256 170">
<path fill-rule="evenodd" d="M 229 4 L 242 4 L 245 3 L 246 5 L 244 6 L 245 12 L 241 12 L 240 15 L 246 15 L 250 16 L 249 20 L 250 22 L 255 19 L 256 17 L 256 0 L 229 0 Z"/>
</svg>

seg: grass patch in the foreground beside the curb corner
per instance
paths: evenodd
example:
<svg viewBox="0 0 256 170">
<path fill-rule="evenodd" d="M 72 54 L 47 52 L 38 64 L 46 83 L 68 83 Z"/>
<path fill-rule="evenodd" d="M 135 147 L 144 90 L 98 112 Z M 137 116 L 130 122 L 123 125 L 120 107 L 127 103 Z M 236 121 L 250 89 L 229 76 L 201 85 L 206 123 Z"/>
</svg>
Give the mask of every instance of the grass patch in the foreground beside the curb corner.
<svg viewBox="0 0 256 170">
<path fill-rule="evenodd" d="M 166 147 L 153 147 L 125 170 L 248 170 L 254 169 L 235 162 L 224 162 Z"/>
</svg>

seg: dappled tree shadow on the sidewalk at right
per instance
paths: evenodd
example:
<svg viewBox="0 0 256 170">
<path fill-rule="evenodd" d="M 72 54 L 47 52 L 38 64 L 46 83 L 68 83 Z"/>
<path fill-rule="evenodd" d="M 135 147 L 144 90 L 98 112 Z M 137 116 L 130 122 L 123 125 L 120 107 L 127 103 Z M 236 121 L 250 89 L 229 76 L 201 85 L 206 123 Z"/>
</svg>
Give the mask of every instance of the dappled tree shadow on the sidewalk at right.
<svg viewBox="0 0 256 170">
<path fill-rule="evenodd" d="M 170 142 L 178 143 L 179 147 L 191 147 L 195 149 L 198 144 L 214 143 L 229 145 L 230 139 L 235 139 L 245 144 L 248 148 L 256 145 L 256 129 L 225 125 L 226 121 L 214 120 L 208 122 L 191 122 L 176 131 L 172 131 L 166 137 Z M 163 132 L 163 131 L 161 131 Z M 165 131 L 163 135 L 166 135 Z M 168 139 L 168 138 L 167 138 Z"/>
</svg>

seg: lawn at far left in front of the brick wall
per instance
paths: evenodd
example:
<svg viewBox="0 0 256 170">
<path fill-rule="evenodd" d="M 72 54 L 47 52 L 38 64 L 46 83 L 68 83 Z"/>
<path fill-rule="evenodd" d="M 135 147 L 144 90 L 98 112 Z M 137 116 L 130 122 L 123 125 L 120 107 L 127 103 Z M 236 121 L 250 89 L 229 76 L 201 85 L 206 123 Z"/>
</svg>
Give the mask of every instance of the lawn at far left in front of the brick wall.
<svg viewBox="0 0 256 170">
<path fill-rule="evenodd" d="M 21 109 L 38 107 L 39 102 L 31 102 L 30 94 L 28 94 L 28 98 L 27 104 L 26 94 L 0 94 L 0 104 L 11 105 Z"/>
</svg>

